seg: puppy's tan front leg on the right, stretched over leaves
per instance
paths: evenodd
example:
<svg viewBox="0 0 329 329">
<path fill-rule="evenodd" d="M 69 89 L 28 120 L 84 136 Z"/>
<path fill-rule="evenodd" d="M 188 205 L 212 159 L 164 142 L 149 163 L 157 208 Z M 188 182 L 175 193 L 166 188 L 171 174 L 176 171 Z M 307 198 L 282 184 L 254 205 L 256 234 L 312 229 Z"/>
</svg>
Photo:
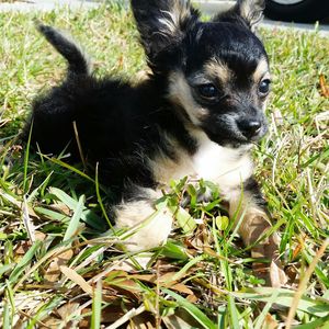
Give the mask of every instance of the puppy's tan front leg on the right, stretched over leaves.
<svg viewBox="0 0 329 329">
<path fill-rule="evenodd" d="M 279 287 L 286 283 L 286 275 L 279 259 L 280 238 L 276 232 L 266 237 L 272 225 L 266 214 L 265 203 L 256 181 L 251 178 L 243 190 L 236 190 L 229 197 L 229 215 L 238 225 L 238 232 L 245 245 L 251 247 L 251 257 L 270 263 L 254 262 L 253 269 L 268 285 Z"/>
</svg>

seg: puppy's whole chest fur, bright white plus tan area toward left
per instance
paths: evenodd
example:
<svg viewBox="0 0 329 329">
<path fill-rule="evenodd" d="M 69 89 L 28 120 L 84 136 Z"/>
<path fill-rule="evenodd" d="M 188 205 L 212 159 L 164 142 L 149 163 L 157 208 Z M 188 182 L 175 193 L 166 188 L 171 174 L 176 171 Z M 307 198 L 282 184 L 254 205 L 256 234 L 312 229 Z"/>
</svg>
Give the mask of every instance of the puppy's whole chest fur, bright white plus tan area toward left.
<svg viewBox="0 0 329 329">
<path fill-rule="evenodd" d="M 252 174 L 253 166 L 248 154 L 249 147 L 245 149 L 222 147 L 209 140 L 204 133 L 197 135 L 197 140 L 198 147 L 193 156 L 179 151 L 178 158 L 172 160 L 159 152 L 156 158 L 148 160 L 157 182 L 169 184 L 172 179 L 197 175 L 217 183 L 222 193 L 226 194 Z M 173 140 L 171 146 L 179 149 Z"/>
</svg>

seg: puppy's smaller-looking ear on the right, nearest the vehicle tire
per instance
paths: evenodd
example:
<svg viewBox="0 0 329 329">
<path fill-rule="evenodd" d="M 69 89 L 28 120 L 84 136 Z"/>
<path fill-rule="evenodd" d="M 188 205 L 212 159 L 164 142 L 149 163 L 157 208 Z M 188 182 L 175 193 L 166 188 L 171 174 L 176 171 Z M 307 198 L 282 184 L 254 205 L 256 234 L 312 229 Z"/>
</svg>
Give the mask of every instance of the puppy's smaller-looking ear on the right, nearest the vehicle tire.
<svg viewBox="0 0 329 329">
<path fill-rule="evenodd" d="M 243 22 L 254 31 L 257 24 L 263 18 L 263 11 L 265 9 L 264 0 L 238 0 L 237 4 L 227 12 L 219 13 L 213 21 L 232 21 L 234 19 L 242 19 Z"/>
</svg>

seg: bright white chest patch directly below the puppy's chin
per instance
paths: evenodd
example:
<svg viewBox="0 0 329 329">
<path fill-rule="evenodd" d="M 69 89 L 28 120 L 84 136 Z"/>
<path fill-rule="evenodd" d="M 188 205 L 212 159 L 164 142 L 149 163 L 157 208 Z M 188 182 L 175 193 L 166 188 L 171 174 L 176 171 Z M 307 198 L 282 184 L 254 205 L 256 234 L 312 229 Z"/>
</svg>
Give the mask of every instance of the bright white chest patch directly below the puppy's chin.
<svg viewBox="0 0 329 329">
<path fill-rule="evenodd" d="M 195 173 L 218 183 L 223 192 L 240 185 L 253 170 L 248 152 L 240 148 L 222 147 L 208 138 L 200 144 L 192 161 Z"/>
</svg>

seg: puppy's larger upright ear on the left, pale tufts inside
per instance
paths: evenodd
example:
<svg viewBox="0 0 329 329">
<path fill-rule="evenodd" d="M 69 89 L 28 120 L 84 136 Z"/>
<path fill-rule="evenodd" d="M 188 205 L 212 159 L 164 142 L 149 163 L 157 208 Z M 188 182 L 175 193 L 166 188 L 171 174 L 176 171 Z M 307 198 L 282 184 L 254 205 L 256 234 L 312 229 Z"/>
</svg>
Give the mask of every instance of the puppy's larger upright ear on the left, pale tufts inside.
<svg viewBox="0 0 329 329">
<path fill-rule="evenodd" d="M 179 45 L 200 13 L 184 0 L 132 0 L 141 45 L 150 60 L 171 45 Z"/>
</svg>

